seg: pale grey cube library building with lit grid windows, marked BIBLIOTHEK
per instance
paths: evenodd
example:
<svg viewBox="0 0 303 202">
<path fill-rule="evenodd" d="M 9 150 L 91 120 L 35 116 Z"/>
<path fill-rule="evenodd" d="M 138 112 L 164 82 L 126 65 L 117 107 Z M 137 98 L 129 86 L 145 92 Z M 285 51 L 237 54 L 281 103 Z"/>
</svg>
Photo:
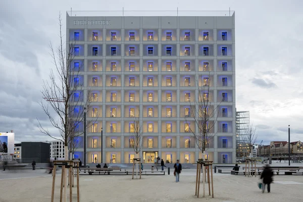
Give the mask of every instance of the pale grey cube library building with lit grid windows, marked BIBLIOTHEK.
<svg viewBox="0 0 303 202">
<path fill-rule="evenodd" d="M 143 163 L 195 163 L 202 158 L 191 131 L 190 108 L 199 89 L 218 118 L 207 149 L 215 163 L 234 163 L 235 17 L 82 17 L 67 14 L 67 49 L 74 54 L 72 78 L 83 84 L 74 99 L 91 92 L 87 163 L 132 163 L 133 122 L 143 131 Z M 197 106 L 196 106 L 197 107 Z M 97 117 L 97 119 L 96 119 Z M 216 117 L 216 116 L 215 116 Z M 103 130 L 103 140 L 101 131 Z M 103 141 L 103 151 L 101 144 Z M 79 142 L 83 142 L 80 137 Z M 83 161 L 83 143 L 75 158 Z"/>
</svg>

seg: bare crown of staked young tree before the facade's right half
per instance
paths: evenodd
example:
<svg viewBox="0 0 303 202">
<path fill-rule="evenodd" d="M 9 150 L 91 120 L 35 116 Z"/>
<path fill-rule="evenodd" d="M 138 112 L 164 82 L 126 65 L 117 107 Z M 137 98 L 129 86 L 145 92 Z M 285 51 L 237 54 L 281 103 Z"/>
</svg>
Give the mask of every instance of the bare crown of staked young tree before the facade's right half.
<svg viewBox="0 0 303 202">
<path fill-rule="evenodd" d="M 198 99 L 190 99 L 190 112 L 185 114 L 185 120 L 189 121 L 189 117 L 193 118 L 198 130 L 191 130 L 197 147 L 200 149 L 203 159 L 205 151 L 210 146 L 210 139 L 214 137 L 215 124 L 218 119 L 218 107 L 211 105 L 213 102 L 213 93 L 210 90 L 210 74 L 208 78 L 196 78 L 198 86 Z"/>
</svg>

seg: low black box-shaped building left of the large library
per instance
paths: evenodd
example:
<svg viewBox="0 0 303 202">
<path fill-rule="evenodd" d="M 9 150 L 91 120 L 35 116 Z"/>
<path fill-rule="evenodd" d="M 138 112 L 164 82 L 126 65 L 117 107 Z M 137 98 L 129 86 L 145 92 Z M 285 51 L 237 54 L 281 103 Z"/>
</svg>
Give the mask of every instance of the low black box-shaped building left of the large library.
<svg viewBox="0 0 303 202">
<path fill-rule="evenodd" d="M 22 142 L 22 163 L 47 163 L 49 159 L 49 143 Z"/>
</svg>

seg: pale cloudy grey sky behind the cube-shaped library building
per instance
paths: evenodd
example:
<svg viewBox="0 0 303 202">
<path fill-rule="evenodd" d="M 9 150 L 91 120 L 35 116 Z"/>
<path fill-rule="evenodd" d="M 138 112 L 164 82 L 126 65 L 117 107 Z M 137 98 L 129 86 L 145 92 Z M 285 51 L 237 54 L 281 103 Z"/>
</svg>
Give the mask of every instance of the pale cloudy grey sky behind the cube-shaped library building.
<svg viewBox="0 0 303 202">
<path fill-rule="evenodd" d="M 118 5 L 118 6 L 117 6 Z M 249 111 L 263 144 L 288 138 L 303 141 L 303 1 L 0 1 L 0 132 L 15 141 L 52 140 L 38 102 L 41 85 L 54 68 L 49 42 L 59 44 L 58 15 L 72 10 L 235 11 L 236 108 Z M 65 25 L 64 25 L 64 29 Z"/>
</svg>

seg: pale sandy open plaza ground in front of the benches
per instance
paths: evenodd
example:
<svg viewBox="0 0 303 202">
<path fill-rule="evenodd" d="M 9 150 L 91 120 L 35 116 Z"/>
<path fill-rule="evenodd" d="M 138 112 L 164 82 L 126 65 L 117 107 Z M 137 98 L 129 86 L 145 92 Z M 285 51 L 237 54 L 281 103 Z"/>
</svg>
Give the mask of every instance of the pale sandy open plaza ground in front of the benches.
<svg viewBox="0 0 303 202">
<path fill-rule="evenodd" d="M 21 173 L 22 172 L 22 173 Z M 56 199 L 59 201 L 60 175 L 56 178 Z M 230 174 L 214 174 L 214 202 L 232 201 L 301 201 L 303 176 L 274 176 L 271 193 L 261 193 L 257 187 L 259 176 L 244 177 Z M 0 171 L 0 201 L 47 201 L 51 200 L 51 175 L 44 170 L 17 172 Z M 200 193 L 203 188 L 201 185 Z M 196 198 L 195 172 L 184 169 L 180 182 L 173 175 L 143 176 L 132 180 L 131 176 L 80 176 L 80 201 L 205 201 Z M 206 191 L 208 193 L 208 191 Z M 76 201 L 76 188 L 73 188 L 73 201 Z"/>
</svg>

